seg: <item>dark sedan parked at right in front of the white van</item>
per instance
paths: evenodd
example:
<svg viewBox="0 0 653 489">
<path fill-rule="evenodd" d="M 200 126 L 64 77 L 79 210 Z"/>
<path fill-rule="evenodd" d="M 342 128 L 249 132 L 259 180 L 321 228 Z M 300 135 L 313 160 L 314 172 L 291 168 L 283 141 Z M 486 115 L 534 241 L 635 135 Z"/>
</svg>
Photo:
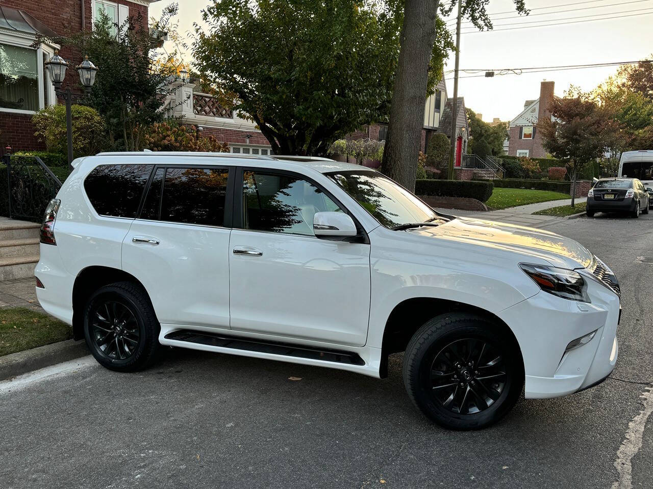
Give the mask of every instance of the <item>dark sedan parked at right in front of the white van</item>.
<svg viewBox="0 0 653 489">
<path fill-rule="evenodd" d="M 597 181 L 587 194 L 587 215 L 597 212 L 628 212 L 638 217 L 648 214 L 649 196 L 636 178 L 604 178 Z"/>
</svg>

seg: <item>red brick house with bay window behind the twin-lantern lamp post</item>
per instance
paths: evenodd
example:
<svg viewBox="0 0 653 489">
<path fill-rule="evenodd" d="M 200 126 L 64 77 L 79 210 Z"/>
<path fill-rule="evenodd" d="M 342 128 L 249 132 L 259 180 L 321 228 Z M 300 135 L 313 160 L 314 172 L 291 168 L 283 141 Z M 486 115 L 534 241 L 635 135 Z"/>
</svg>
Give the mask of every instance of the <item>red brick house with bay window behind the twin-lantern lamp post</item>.
<svg viewBox="0 0 653 489">
<path fill-rule="evenodd" d="M 158 0 L 0 0 L 0 152 L 44 149 L 34 136 L 32 115 L 57 102 L 54 87 L 43 63 L 60 46 L 31 47 L 37 35 L 54 36 L 91 29 L 103 10 L 115 22 L 142 15 L 148 22 L 148 7 Z M 61 46 L 59 53 L 71 67 L 82 61 L 82 53 Z M 75 86 L 77 74 L 69 70 L 63 88 Z"/>
</svg>

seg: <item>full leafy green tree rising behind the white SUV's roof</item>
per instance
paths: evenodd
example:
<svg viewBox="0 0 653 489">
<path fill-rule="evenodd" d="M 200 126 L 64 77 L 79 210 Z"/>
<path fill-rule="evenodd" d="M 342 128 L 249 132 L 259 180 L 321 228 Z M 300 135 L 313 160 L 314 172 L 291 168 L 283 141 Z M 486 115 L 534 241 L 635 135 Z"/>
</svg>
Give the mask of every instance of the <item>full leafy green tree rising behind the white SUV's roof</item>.
<svg viewBox="0 0 653 489">
<path fill-rule="evenodd" d="M 195 27 L 195 68 L 233 93 L 272 151 L 323 155 L 383 119 L 398 57 L 387 8 L 362 0 L 215 0 Z"/>
</svg>

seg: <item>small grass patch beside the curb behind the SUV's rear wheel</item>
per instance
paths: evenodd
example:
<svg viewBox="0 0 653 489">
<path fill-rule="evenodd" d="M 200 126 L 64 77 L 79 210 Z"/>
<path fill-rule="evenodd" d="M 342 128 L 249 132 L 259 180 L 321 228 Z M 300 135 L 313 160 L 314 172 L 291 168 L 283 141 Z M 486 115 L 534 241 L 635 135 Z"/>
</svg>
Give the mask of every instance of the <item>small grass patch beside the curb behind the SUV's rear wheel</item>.
<svg viewBox="0 0 653 489">
<path fill-rule="evenodd" d="M 72 328 L 24 307 L 0 309 L 0 357 L 72 338 Z"/>
</svg>

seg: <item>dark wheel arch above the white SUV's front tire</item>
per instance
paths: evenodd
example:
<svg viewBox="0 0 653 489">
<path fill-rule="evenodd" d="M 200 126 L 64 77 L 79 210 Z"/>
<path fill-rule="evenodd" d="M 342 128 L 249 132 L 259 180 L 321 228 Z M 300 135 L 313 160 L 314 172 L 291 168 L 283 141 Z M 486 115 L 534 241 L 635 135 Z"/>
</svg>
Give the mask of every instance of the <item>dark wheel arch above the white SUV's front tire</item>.
<svg viewBox="0 0 653 489">
<path fill-rule="evenodd" d="M 383 340 L 381 343 L 381 364 L 379 376 L 386 378 L 388 376 L 388 357 L 391 353 L 405 351 L 408 342 L 413 334 L 426 323 L 429 319 L 435 318 L 448 312 L 464 312 L 488 319 L 505 334 L 505 337 L 513 343 L 519 355 L 522 366 L 524 358 L 517 341 L 517 336 L 503 319 L 496 314 L 472 304 L 451 301 L 449 299 L 438 299 L 434 297 L 411 297 L 396 304 L 390 312 L 383 330 Z"/>
</svg>

